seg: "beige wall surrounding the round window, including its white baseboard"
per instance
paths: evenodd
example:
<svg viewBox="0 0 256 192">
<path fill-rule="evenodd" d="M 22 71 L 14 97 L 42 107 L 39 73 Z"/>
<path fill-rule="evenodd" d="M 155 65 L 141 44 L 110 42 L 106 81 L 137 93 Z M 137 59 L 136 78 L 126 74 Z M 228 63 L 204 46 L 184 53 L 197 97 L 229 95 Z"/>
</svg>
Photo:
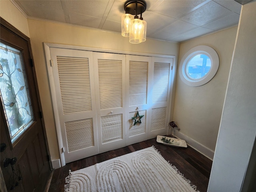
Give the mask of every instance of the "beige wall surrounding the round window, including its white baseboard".
<svg viewBox="0 0 256 192">
<path fill-rule="evenodd" d="M 217 74 L 207 84 L 188 86 L 179 74 L 176 84 L 173 120 L 180 128 L 176 135 L 210 158 L 213 158 L 220 126 L 236 32 L 237 27 L 233 27 L 180 45 L 179 62 L 188 50 L 198 45 L 214 48 L 220 59 Z"/>
</svg>

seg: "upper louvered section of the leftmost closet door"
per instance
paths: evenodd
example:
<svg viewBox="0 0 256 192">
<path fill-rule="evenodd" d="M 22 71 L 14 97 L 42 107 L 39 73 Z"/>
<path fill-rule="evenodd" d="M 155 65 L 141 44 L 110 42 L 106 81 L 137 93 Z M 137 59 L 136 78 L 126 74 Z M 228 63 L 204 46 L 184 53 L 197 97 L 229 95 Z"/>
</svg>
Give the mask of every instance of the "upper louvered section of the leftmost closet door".
<svg viewBox="0 0 256 192">
<path fill-rule="evenodd" d="M 92 111 L 88 58 L 57 56 L 63 114 Z"/>
</svg>

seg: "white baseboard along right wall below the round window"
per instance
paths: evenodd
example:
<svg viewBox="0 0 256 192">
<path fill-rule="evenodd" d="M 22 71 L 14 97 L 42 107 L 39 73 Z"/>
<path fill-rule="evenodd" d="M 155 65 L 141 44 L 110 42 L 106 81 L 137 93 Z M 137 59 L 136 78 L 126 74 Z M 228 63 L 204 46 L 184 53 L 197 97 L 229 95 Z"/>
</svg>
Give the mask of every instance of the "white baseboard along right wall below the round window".
<svg viewBox="0 0 256 192">
<path fill-rule="evenodd" d="M 194 150 L 197 150 L 198 152 L 200 152 L 201 154 L 203 154 L 204 156 L 206 156 L 210 160 L 213 160 L 213 156 L 214 156 L 214 151 L 213 150 L 211 150 L 208 147 L 198 143 L 196 140 L 184 135 L 181 132 L 176 131 L 175 136 L 179 139 L 185 140 L 188 146 L 192 147 Z"/>
</svg>

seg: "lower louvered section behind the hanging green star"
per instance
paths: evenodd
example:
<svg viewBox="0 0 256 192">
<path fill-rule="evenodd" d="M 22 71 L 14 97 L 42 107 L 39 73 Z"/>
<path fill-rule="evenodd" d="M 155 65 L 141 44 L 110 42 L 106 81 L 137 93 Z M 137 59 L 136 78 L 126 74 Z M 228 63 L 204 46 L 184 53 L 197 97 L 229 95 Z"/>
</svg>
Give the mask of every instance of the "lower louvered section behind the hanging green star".
<svg viewBox="0 0 256 192">
<path fill-rule="evenodd" d="M 141 124 L 134 125 L 134 120 L 132 119 L 136 116 L 137 112 L 129 113 L 129 137 L 140 135 L 146 133 L 146 110 L 139 111 L 140 116 L 144 115 L 141 118 Z"/>
</svg>

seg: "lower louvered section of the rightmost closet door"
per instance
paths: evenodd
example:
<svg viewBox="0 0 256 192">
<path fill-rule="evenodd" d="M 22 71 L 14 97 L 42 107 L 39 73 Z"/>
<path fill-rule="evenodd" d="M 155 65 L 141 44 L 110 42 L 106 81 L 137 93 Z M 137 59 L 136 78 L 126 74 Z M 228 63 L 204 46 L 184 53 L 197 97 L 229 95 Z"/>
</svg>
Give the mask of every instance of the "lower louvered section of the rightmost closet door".
<svg viewBox="0 0 256 192">
<path fill-rule="evenodd" d="M 152 109 L 150 131 L 165 129 L 165 122 L 166 107 Z"/>
</svg>

